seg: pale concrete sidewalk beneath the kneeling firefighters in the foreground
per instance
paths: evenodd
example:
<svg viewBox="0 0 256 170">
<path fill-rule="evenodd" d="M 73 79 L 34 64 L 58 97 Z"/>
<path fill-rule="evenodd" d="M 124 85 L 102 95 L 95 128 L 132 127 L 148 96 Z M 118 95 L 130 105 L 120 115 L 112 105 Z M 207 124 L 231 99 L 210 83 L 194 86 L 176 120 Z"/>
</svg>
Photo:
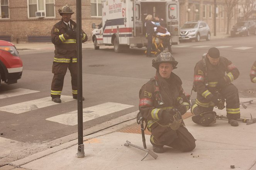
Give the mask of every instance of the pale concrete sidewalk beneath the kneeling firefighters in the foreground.
<svg viewBox="0 0 256 170">
<path fill-rule="evenodd" d="M 256 117 L 256 98 L 240 98 L 248 107 L 241 107 L 241 117 Z M 216 108 L 215 108 L 216 109 Z M 224 110 L 215 110 L 218 115 L 225 115 Z M 114 120 L 117 123 L 129 120 L 137 112 Z M 189 115 L 191 113 L 186 113 Z M 256 170 L 256 123 L 239 123 L 232 127 L 226 120 L 217 120 L 210 127 L 202 127 L 192 122 L 191 117 L 184 120 L 186 127 L 195 137 L 196 148 L 191 152 L 181 153 L 173 148 L 164 147 L 165 153 L 157 154 L 155 160 L 150 155 L 141 161 L 146 152 L 134 147 L 124 146 L 126 140 L 143 147 L 140 128 L 136 120 L 120 123 L 114 127 L 84 137 L 85 157 L 77 158 L 77 140 L 49 148 L 34 155 L 14 161 L 0 167 L 0 170 L 131 170 L 131 169 L 177 169 L 177 170 L 227 170 L 234 165 L 239 170 Z M 146 131 L 146 134 L 149 134 Z M 147 148 L 152 150 L 146 135 Z M 19 168 L 17 168 L 19 167 Z"/>
</svg>

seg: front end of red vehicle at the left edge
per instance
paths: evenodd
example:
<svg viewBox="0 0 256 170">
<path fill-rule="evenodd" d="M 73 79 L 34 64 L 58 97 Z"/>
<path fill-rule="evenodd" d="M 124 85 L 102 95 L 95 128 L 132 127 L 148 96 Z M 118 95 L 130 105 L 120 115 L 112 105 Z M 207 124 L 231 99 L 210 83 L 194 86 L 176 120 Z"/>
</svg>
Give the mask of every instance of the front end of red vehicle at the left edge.
<svg viewBox="0 0 256 170">
<path fill-rule="evenodd" d="M 13 43 L 0 40 L 0 84 L 17 83 L 23 70 L 22 60 Z"/>
</svg>

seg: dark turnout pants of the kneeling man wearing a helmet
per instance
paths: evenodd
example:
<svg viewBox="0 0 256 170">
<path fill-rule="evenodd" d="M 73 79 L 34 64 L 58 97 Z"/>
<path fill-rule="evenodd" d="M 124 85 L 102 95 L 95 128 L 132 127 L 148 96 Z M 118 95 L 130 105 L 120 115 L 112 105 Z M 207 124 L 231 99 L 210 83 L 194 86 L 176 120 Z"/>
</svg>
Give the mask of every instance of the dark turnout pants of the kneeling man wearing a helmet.
<svg viewBox="0 0 256 170">
<path fill-rule="evenodd" d="M 166 145 L 181 152 L 189 152 L 195 148 L 195 138 L 184 126 L 175 131 L 170 129 L 170 131 L 161 134 L 160 137 L 151 135 L 150 142 L 156 147 Z"/>
</svg>

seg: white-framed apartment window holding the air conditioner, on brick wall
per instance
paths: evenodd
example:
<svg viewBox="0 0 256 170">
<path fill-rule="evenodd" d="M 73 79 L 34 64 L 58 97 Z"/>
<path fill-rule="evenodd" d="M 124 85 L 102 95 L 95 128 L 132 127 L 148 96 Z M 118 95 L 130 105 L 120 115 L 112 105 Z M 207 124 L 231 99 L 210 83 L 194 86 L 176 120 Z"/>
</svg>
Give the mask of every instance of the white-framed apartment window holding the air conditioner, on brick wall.
<svg viewBox="0 0 256 170">
<path fill-rule="evenodd" d="M 45 17 L 55 17 L 54 0 L 28 0 L 29 18 L 35 18 L 36 12 L 44 12 Z"/>
</svg>

